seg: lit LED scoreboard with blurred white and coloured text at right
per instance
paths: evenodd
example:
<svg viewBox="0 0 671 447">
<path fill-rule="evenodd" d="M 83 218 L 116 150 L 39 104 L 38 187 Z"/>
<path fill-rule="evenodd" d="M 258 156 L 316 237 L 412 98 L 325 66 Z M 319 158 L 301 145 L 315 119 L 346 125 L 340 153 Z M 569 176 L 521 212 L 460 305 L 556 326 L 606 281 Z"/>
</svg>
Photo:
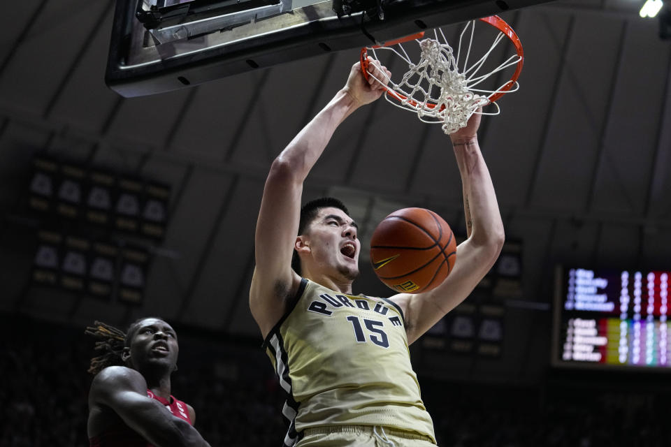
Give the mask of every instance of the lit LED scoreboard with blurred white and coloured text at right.
<svg viewBox="0 0 671 447">
<path fill-rule="evenodd" d="M 671 271 L 558 268 L 552 363 L 671 367 Z"/>
</svg>

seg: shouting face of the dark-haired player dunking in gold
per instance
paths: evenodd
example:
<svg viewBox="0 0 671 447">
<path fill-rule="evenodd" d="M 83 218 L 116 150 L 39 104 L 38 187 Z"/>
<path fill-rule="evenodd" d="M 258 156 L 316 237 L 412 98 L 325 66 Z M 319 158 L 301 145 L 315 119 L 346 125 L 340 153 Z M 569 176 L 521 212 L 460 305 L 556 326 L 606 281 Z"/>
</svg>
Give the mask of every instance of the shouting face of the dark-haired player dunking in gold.
<svg viewBox="0 0 671 447">
<path fill-rule="evenodd" d="M 356 223 L 335 207 L 319 210 L 308 231 L 310 261 L 318 270 L 335 268 L 347 279 L 359 274 L 361 242 Z"/>
</svg>

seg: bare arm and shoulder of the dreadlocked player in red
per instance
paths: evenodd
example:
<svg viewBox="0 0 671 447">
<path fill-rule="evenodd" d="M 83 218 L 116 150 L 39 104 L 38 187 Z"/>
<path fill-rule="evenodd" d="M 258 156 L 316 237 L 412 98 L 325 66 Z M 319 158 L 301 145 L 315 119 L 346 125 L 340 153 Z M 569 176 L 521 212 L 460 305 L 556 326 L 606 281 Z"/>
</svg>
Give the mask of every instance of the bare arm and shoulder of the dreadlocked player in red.
<svg viewBox="0 0 671 447">
<path fill-rule="evenodd" d="M 176 418 L 161 402 L 147 397 L 147 382 L 134 369 L 108 367 L 96 375 L 89 407 L 92 411 L 111 409 L 157 447 L 210 447 L 186 420 Z"/>
</svg>

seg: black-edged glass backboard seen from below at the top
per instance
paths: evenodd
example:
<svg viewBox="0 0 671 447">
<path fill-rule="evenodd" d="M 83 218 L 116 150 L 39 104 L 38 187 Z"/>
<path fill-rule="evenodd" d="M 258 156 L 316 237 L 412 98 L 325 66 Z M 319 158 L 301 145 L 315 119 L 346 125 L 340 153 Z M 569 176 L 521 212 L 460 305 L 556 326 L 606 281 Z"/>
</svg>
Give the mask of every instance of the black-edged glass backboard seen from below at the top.
<svg viewBox="0 0 671 447">
<path fill-rule="evenodd" d="M 547 1 L 117 0 L 106 82 L 157 94 Z"/>
</svg>

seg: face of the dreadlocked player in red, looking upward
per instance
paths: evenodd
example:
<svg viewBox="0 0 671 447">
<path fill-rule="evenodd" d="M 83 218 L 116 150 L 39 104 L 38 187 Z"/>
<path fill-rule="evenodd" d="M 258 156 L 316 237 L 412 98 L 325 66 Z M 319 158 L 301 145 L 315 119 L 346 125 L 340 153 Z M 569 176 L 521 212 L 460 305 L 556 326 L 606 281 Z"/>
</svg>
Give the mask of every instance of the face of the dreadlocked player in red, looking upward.
<svg viewBox="0 0 671 447">
<path fill-rule="evenodd" d="M 140 321 L 130 346 L 131 362 L 140 372 L 147 367 L 172 372 L 179 351 L 175 330 L 158 318 Z"/>
</svg>

